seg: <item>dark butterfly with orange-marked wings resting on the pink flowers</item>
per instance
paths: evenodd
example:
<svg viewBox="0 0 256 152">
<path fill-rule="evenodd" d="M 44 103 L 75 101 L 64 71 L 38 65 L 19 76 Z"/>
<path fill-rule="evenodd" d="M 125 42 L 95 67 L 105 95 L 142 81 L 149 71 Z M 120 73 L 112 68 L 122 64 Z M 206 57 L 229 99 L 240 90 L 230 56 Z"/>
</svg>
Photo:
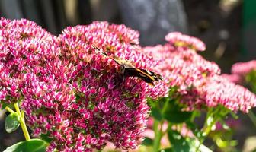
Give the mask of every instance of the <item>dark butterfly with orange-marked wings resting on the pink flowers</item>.
<svg viewBox="0 0 256 152">
<path fill-rule="evenodd" d="M 110 59 L 114 60 L 114 62 L 117 63 L 117 65 L 120 65 L 121 67 L 121 73 L 124 77 L 137 77 L 142 79 L 142 81 L 145 81 L 149 85 L 154 86 L 155 81 L 162 81 L 162 76 L 160 74 L 157 74 L 153 71 L 148 71 L 143 68 L 136 68 L 131 62 L 123 60 L 123 59 L 117 59 L 114 57 L 111 57 L 110 55 L 107 55 L 106 52 L 99 49 L 96 46 L 93 46 L 94 49 L 98 49 L 101 53 L 108 56 Z"/>
</svg>

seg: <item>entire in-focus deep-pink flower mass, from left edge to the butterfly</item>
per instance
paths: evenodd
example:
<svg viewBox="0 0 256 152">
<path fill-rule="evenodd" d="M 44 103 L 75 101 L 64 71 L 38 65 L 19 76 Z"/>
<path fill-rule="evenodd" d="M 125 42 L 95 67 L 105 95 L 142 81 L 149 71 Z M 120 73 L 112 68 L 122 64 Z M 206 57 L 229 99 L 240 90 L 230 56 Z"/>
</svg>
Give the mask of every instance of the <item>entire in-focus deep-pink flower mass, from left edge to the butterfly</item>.
<svg viewBox="0 0 256 152">
<path fill-rule="evenodd" d="M 154 71 L 158 62 L 142 53 L 136 31 L 94 22 L 56 37 L 27 20 L 2 18 L 0 25 L 0 100 L 22 101 L 34 135 L 52 139 L 48 151 L 139 145 L 149 116 L 146 97 L 163 97 L 168 86 L 123 78 L 107 56 Z"/>
</svg>

